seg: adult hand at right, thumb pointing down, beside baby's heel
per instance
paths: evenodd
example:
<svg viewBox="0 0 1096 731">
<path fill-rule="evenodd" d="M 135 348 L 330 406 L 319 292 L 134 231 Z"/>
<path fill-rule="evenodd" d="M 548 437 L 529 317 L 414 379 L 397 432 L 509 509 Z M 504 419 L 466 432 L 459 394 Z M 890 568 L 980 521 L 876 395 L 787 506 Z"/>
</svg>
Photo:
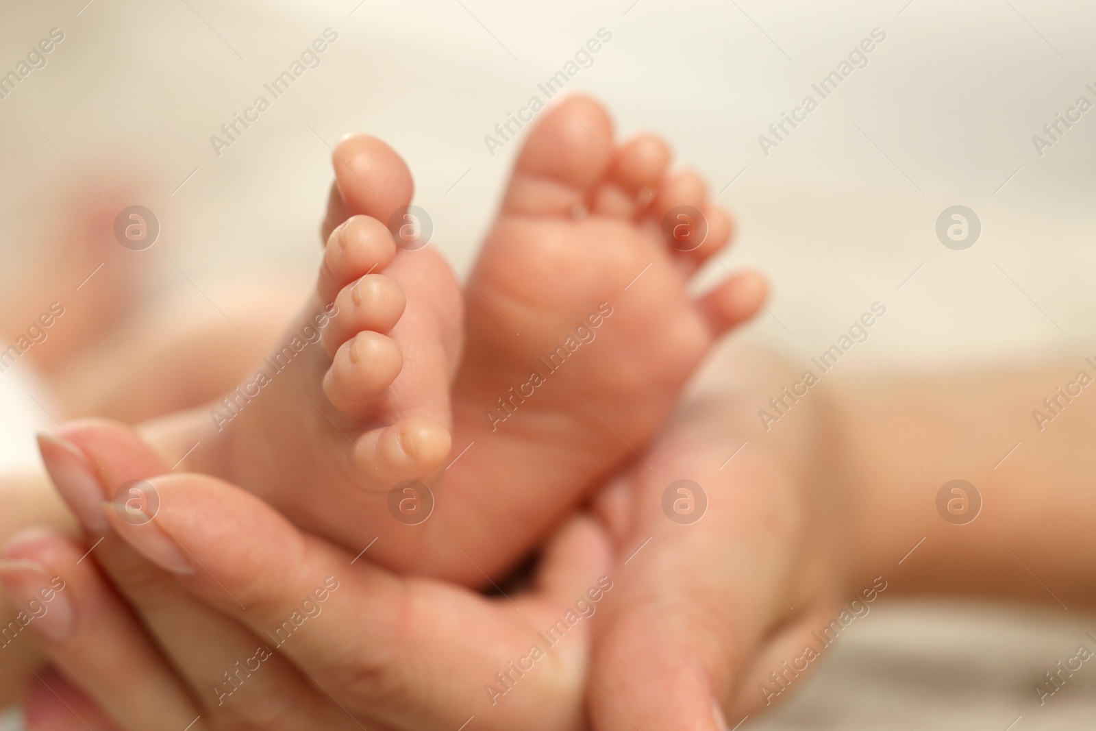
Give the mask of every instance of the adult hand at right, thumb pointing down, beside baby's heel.
<svg viewBox="0 0 1096 731">
<path fill-rule="evenodd" d="M 865 603 L 845 568 L 848 513 L 826 397 L 788 400 L 766 431 L 758 408 L 802 374 L 738 344 L 706 370 L 600 498 L 620 560 L 596 617 L 589 705 L 598 731 L 737 728 L 818 664 L 825 646 L 812 632 L 832 636 L 840 606 Z"/>
</svg>

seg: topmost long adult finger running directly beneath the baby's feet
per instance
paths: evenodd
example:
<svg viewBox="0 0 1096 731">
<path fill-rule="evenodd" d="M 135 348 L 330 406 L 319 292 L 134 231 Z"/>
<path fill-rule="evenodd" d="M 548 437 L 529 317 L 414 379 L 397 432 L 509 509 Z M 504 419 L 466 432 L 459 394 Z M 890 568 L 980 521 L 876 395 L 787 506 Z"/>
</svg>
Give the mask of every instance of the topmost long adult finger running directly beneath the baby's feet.
<svg viewBox="0 0 1096 731">
<path fill-rule="evenodd" d="M 87 436 L 82 443 L 92 445 Z M 180 475 L 148 482 L 159 495 L 155 519 L 133 525 L 110 510 L 112 527 L 203 603 L 276 644 L 356 717 L 402 729 L 454 729 L 471 716 L 498 729 L 581 722 L 586 627 L 546 648 L 551 654 L 538 656 L 555 660 L 507 688 L 504 703 L 484 690 L 501 672 L 517 672 L 510 666 L 540 641 L 539 629 L 574 614 L 580 587 L 597 584 L 608 547 L 589 518 L 564 528 L 547 551 L 541 591 L 489 599 L 376 569 L 367 555 L 305 535 L 218 480 Z"/>
</svg>

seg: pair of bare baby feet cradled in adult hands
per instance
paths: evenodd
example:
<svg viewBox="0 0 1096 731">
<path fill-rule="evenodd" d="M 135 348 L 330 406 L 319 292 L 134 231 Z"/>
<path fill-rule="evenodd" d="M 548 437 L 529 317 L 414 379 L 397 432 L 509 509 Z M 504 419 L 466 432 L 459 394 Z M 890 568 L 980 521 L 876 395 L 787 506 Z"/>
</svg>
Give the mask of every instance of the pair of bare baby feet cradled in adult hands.
<svg viewBox="0 0 1096 731">
<path fill-rule="evenodd" d="M 463 292 L 402 238 L 403 161 L 353 136 L 333 162 L 316 296 L 184 467 L 397 571 L 499 578 L 639 455 L 763 297 L 752 274 L 689 294 L 730 218 L 669 173 L 661 139 L 616 141 L 586 98 L 530 132 Z M 665 236 L 683 210 L 699 243 L 703 227 Z"/>
</svg>

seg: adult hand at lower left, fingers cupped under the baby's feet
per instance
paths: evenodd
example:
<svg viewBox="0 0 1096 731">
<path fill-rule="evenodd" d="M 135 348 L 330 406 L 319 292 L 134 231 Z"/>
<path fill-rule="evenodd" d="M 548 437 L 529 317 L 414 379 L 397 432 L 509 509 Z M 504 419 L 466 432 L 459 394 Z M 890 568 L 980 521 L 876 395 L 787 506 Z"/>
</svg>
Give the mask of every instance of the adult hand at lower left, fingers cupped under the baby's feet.
<svg viewBox="0 0 1096 731">
<path fill-rule="evenodd" d="M 591 519 L 561 528 L 532 590 L 487 598 L 379 570 L 233 486 L 162 476 L 123 426 L 64 434 L 43 456 L 116 592 L 52 533 L 9 545 L 0 578 L 21 604 L 54 586 L 30 627 L 119 729 L 584 728 L 590 616 L 612 593 Z M 149 522 L 103 505 L 133 480 L 158 495 Z M 45 706 L 28 717 L 68 728 Z"/>
</svg>

